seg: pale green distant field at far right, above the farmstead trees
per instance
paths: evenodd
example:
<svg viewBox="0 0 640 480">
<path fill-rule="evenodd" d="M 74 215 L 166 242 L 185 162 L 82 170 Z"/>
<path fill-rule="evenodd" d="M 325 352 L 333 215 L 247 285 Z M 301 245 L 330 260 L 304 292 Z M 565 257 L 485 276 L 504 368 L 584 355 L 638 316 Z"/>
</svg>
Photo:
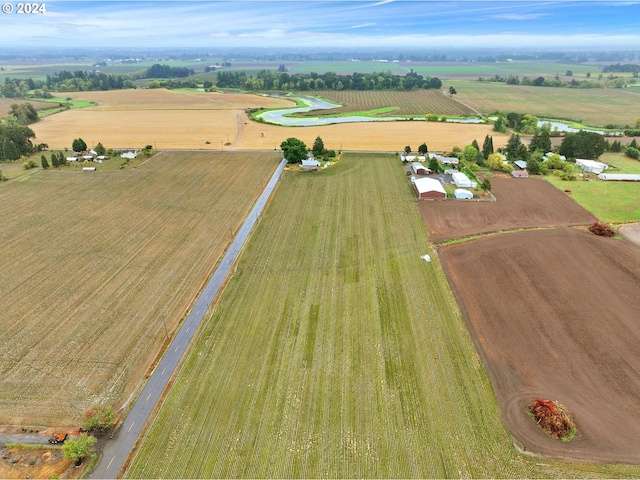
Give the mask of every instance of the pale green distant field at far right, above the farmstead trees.
<svg viewBox="0 0 640 480">
<path fill-rule="evenodd" d="M 448 80 L 445 85 L 455 87 L 458 100 L 485 114 L 521 112 L 604 127 L 635 125 L 640 112 L 640 95 L 626 89 L 545 88 L 471 80 Z"/>
</svg>

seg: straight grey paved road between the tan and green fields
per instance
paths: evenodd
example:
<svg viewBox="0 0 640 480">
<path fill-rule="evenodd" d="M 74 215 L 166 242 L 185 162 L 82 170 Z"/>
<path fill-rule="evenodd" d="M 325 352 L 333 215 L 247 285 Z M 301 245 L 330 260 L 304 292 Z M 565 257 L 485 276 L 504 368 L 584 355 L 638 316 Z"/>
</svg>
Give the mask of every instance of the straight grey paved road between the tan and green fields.
<svg viewBox="0 0 640 480">
<path fill-rule="evenodd" d="M 189 313 L 189 316 L 180 328 L 180 331 L 171 342 L 171 345 L 169 345 L 169 348 L 167 348 L 167 351 L 151 377 L 149 377 L 149 381 L 147 382 L 144 390 L 142 390 L 142 393 L 131 409 L 131 412 L 127 415 L 122 427 L 113 436 L 113 439 L 106 443 L 102 459 L 91 474 L 91 478 L 116 478 L 122 469 L 136 440 L 138 439 L 138 436 L 147 423 L 151 412 L 160 400 L 169 379 L 173 375 L 173 372 L 189 346 L 193 335 L 197 331 L 200 322 L 218 294 L 222 283 L 227 278 L 227 275 L 235 263 L 240 250 L 251 232 L 251 229 L 258 220 L 267 200 L 269 200 L 273 189 L 284 171 L 286 163 L 286 160 L 283 160 L 276 169 L 264 191 L 260 195 L 260 198 L 258 198 L 258 201 L 251 210 L 249 217 L 238 231 L 235 239 L 231 243 L 231 246 L 227 250 L 227 253 L 222 258 L 218 268 L 213 273 L 213 276 L 200 294 L 200 297 L 198 297 L 195 306 Z"/>
</svg>

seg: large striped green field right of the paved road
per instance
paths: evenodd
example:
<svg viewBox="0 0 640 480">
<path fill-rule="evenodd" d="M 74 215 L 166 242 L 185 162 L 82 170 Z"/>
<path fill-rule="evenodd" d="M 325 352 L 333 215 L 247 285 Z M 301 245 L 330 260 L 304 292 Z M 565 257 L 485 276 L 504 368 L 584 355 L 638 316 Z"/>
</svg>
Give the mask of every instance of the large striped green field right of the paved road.
<svg viewBox="0 0 640 480">
<path fill-rule="evenodd" d="M 639 473 L 514 448 L 400 162 L 353 154 L 285 174 L 127 476 Z"/>
</svg>

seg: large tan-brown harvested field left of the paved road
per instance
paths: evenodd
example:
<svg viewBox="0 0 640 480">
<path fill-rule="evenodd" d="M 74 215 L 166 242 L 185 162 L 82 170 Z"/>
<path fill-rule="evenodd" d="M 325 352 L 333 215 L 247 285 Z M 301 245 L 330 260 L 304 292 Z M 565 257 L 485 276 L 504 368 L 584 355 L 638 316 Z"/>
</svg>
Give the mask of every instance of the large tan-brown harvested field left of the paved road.
<svg viewBox="0 0 640 480">
<path fill-rule="evenodd" d="M 278 161 L 161 153 L 0 185 L 0 424 L 73 426 L 96 402 L 126 405 Z"/>
</svg>

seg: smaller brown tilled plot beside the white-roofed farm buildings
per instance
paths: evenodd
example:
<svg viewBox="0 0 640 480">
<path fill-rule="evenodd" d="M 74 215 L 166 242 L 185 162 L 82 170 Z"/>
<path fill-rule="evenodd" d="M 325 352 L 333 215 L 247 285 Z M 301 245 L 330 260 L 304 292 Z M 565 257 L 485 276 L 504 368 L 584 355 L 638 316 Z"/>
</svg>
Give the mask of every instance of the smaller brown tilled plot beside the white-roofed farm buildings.
<svg viewBox="0 0 640 480">
<path fill-rule="evenodd" d="M 589 225 L 596 218 L 566 193 L 536 178 L 492 178 L 495 202 L 421 201 L 432 241 L 515 228 Z"/>
</svg>

